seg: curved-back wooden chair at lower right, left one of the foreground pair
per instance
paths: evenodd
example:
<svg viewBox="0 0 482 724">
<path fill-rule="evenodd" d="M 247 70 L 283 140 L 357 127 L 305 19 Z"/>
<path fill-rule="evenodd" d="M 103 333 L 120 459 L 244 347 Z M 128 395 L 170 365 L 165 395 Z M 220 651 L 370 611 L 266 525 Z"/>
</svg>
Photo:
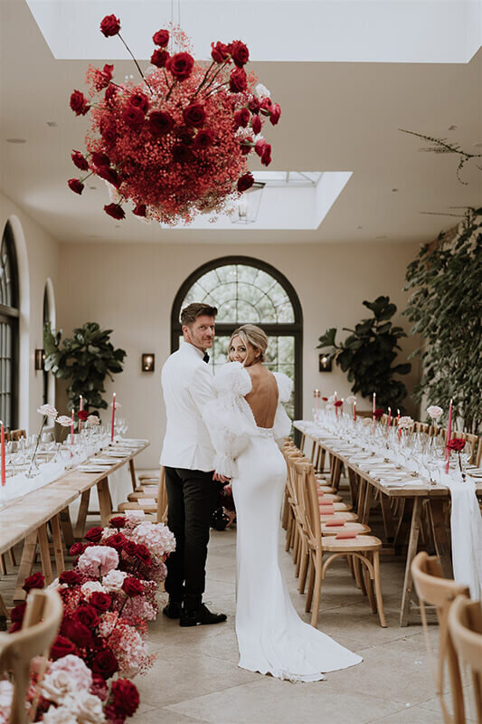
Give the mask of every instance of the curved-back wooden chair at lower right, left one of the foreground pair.
<svg viewBox="0 0 482 724">
<path fill-rule="evenodd" d="M 462 697 L 462 681 L 460 678 L 460 670 L 458 668 L 457 654 L 449 634 L 449 610 L 458 595 L 468 597 L 467 586 L 460 586 L 453 580 L 443 577 L 442 569 L 439 564 L 439 558 L 429 556 L 425 551 L 421 551 L 415 556 L 411 562 L 411 576 L 415 585 L 415 590 L 419 596 L 421 604 L 421 621 L 426 637 L 427 650 L 430 657 L 433 678 L 437 695 L 439 697 L 442 709 L 443 720 L 445 724 L 464 724 L 465 710 Z M 439 620 L 439 662 L 436 665 L 430 646 L 428 635 L 427 615 L 425 605 L 434 605 Z M 449 680 L 452 691 L 452 704 L 454 709 L 453 718 L 449 714 L 447 705 L 443 697 L 443 681 L 445 664 L 449 669 Z"/>
</svg>

